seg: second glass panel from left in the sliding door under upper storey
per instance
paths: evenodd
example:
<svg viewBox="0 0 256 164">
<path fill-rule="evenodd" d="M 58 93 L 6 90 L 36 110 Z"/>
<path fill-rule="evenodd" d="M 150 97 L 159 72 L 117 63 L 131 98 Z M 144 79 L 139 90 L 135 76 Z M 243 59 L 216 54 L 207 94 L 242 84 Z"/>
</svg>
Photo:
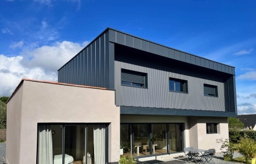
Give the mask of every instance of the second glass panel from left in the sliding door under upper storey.
<svg viewBox="0 0 256 164">
<path fill-rule="evenodd" d="M 134 124 L 134 156 L 150 155 L 149 124 Z"/>
</svg>

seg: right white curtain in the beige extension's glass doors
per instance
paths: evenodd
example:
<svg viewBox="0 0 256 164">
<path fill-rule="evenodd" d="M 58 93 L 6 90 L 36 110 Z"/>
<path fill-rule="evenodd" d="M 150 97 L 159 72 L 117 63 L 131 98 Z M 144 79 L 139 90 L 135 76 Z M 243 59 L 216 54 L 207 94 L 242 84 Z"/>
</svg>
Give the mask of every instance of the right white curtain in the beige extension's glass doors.
<svg viewBox="0 0 256 164">
<path fill-rule="evenodd" d="M 93 125 L 95 164 L 105 164 L 105 125 Z"/>
</svg>

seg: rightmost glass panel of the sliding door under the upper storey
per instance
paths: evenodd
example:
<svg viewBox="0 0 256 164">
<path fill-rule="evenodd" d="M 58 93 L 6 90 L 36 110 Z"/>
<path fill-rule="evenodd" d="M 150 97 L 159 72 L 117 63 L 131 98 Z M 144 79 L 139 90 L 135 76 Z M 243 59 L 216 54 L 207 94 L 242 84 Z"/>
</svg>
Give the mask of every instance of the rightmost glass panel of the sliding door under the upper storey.
<svg viewBox="0 0 256 164">
<path fill-rule="evenodd" d="M 183 126 L 181 123 L 169 124 L 170 153 L 182 151 L 182 140 L 181 140 L 182 131 L 183 131 Z"/>
</svg>

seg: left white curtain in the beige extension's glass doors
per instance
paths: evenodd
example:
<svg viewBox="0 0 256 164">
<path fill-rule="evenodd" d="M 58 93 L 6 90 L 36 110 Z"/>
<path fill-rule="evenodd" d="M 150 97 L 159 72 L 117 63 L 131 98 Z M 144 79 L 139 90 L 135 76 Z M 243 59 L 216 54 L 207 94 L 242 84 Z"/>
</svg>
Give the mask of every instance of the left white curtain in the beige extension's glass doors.
<svg viewBox="0 0 256 164">
<path fill-rule="evenodd" d="M 53 164 L 51 125 L 38 126 L 38 164 Z"/>
</svg>

